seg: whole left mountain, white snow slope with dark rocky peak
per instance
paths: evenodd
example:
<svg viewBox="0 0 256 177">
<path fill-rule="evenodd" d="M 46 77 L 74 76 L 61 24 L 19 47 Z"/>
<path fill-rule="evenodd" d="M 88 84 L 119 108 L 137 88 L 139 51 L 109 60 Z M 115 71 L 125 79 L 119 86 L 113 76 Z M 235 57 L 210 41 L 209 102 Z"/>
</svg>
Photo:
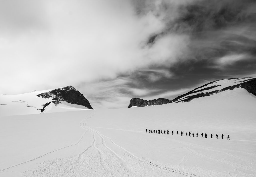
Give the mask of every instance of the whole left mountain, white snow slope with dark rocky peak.
<svg viewBox="0 0 256 177">
<path fill-rule="evenodd" d="M 0 116 L 93 109 L 72 86 L 19 95 L 0 94 Z"/>
</svg>

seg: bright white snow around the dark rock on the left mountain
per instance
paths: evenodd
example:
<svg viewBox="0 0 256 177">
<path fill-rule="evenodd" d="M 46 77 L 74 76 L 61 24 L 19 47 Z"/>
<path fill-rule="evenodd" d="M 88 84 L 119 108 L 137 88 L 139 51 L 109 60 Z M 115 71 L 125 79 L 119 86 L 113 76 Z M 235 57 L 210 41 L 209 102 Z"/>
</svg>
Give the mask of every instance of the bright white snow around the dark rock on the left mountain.
<svg viewBox="0 0 256 177">
<path fill-rule="evenodd" d="M 60 87 L 61 88 L 61 87 Z M 51 90 L 33 91 L 31 93 L 24 93 L 18 95 L 4 95 L 0 94 L 0 116 L 8 115 L 23 115 L 23 114 L 38 114 L 41 108 L 47 102 L 52 101 L 52 98 L 43 98 L 36 95 L 50 92 Z M 51 103 L 45 108 L 44 112 L 63 112 L 86 109 L 82 105 L 76 105 L 61 101 L 57 106 Z"/>
</svg>

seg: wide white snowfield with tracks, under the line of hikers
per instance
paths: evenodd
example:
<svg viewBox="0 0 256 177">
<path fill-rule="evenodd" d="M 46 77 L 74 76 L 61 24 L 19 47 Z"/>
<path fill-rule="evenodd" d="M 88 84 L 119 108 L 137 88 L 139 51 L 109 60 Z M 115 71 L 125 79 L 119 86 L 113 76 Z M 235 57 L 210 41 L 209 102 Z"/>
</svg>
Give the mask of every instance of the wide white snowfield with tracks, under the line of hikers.
<svg viewBox="0 0 256 177">
<path fill-rule="evenodd" d="M 2 116 L 0 176 L 256 176 L 255 105 L 235 88 L 186 103 Z"/>
</svg>

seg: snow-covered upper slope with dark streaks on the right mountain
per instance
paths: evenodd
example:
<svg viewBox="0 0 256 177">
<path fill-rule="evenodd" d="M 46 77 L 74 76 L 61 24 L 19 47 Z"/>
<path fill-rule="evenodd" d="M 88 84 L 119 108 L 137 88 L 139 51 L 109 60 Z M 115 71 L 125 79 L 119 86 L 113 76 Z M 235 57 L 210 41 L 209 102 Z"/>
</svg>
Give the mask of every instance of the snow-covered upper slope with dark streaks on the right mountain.
<svg viewBox="0 0 256 177">
<path fill-rule="evenodd" d="M 209 92 L 213 92 L 213 91 L 219 91 L 219 90 L 222 90 L 223 88 L 226 88 L 226 87 L 229 87 L 229 86 L 233 86 L 233 85 L 238 85 L 238 84 L 241 84 L 241 83 L 247 81 L 248 79 L 255 79 L 255 78 L 256 77 L 218 80 L 218 81 L 212 82 L 211 84 L 208 84 L 208 85 L 206 85 L 204 87 L 200 87 L 200 88 L 197 88 L 197 89 L 193 90 L 193 92 L 199 91 L 199 90 L 202 90 L 202 91 L 186 95 L 186 96 L 184 96 L 182 98 L 179 98 L 175 102 L 179 102 L 179 101 L 181 101 L 183 99 L 186 99 L 188 96 L 197 95 L 199 93 L 209 93 Z M 209 90 L 203 90 L 203 89 L 211 87 L 211 86 L 217 86 L 217 87 L 211 88 Z"/>
</svg>

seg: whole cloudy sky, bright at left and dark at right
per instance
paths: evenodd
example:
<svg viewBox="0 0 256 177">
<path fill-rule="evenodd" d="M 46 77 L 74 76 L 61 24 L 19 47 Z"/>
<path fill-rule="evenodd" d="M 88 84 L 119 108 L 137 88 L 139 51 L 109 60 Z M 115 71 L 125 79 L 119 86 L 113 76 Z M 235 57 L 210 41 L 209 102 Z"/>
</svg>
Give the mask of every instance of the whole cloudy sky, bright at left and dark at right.
<svg viewBox="0 0 256 177">
<path fill-rule="evenodd" d="M 256 76 L 256 3 L 0 1 L 2 94 L 72 85 L 92 107 Z"/>
</svg>

